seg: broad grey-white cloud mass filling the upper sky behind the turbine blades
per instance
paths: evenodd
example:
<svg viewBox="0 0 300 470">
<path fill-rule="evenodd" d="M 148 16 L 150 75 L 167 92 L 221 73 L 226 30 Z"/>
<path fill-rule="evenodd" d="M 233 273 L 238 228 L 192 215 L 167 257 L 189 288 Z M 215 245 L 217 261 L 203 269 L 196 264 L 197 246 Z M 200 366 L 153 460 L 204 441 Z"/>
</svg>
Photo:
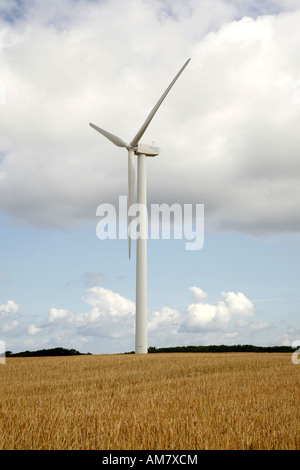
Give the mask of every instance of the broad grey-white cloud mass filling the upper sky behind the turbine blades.
<svg viewBox="0 0 300 470">
<path fill-rule="evenodd" d="M 0 210 L 13 221 L 70 227 L 126 194 L 126 154 L 88 123 L 130 139 L 191 56 L 144 136 L 163 150 L 150 202 L 204 203 L 219 230 L 299 232 L 297 2 L 2 4 Z"/>
</svg>

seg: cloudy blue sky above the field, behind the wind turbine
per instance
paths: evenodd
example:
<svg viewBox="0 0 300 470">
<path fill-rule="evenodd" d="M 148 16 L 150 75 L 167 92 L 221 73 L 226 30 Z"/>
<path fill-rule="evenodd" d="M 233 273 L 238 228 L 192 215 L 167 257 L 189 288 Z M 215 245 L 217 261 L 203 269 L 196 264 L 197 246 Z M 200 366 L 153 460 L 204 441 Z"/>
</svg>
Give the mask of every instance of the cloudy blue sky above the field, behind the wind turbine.
<svg viewBox="0 0 300 470">
<path fill-rule="evenodd" d="M 134 350 L 135 242 L 100 240 L 143 136 L 151 204 L 204 205 L 204 244 L 148 240 L 148 344 L 300 340 L 300 0 L 0 0 L 0 340 Z M 183 206 L 182 206 L 183 207 Z"/>
</svg>

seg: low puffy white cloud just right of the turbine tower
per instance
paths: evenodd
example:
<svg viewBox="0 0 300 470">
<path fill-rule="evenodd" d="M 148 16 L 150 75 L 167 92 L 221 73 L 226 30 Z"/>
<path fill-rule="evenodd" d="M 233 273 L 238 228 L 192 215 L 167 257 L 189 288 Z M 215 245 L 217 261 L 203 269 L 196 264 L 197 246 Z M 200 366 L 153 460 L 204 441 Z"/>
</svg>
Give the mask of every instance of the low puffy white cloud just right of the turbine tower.
<svg viewBox="0 0 300 470">
<path fill-rule="evenodd" d="M 243 342 L 249 332 L 270 327 L 268 322 L 257 320 L 253 302 L 242 292 L 222 292 L 224 300 L 208 303 L 208 294 L 201 288 L 189 290 L 196 303 L 182 311 L 164 307 L 150 316 L 151 344 L 232 344 Z"/>
</svg>

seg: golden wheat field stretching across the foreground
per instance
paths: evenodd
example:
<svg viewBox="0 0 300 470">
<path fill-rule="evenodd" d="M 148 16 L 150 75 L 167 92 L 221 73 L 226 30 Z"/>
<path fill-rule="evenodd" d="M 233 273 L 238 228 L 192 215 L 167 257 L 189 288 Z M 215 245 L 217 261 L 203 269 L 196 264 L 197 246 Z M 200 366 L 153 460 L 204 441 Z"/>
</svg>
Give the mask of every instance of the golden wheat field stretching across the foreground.
<svg viewBox="0 0 300 470">
<path fill-rule="evenodd" d="M 0 449 L 300 449 L 290 354 L 8 358 Z"/>
</svg>

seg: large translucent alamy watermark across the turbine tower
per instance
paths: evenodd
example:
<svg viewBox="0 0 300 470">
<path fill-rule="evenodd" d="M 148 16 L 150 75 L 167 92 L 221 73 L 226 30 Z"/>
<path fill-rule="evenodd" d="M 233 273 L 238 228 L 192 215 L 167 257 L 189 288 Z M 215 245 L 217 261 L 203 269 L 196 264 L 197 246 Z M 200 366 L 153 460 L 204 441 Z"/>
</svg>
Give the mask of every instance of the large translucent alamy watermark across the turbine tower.
<svg viewBox="0 0 300 470">
<path fill-rule="evenodd" d="M 151 204 L 149 211 L 144 204 L 128 208 L 127 196 L 119 196 L 118 208 L 100 204 L 96 215 L 101 217 L 96 228 L 100 240 L 124 240 L 130 234 L 132 240 L 185 239 L 186 250 L 201 250 L 204 245 L 204 204 Z M 141 220 L 147 221 L 146 227 L 141 227 Z"/>
</svg>

